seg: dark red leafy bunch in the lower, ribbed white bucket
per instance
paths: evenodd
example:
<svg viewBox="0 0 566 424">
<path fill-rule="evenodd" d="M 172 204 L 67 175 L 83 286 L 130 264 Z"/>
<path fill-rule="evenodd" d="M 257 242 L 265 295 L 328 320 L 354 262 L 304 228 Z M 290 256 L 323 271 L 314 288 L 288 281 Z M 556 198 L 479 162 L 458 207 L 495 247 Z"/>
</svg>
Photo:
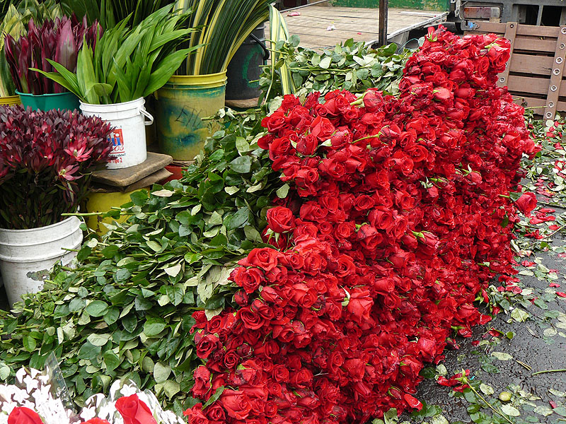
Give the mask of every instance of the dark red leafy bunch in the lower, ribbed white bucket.
<svg viewBox="0 0 566 424">
<path fill-rule="evenodd" d="M 78 112 L 0 106 L 0 228 L 58 223 L 76 212 L 109 160 L 110 125 Z"/>
</svg>

